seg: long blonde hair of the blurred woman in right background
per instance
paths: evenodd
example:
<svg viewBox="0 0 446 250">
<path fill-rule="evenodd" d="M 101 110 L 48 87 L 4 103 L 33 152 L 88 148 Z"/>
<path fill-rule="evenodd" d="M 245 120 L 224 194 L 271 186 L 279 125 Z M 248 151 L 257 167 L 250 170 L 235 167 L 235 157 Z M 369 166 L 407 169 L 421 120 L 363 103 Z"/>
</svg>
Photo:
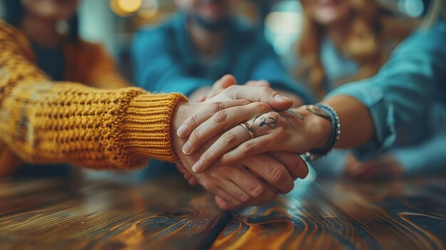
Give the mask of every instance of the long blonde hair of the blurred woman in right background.
<svg viewBox="0 0 446 250">
<path fill-rule="evenodd" d="M 401 25 L 375 0 L 349 1 L 351 1 L 354 13 L 346 27 L 346 37 L 343 39 L 343 43 L 335 45 L 344 56 L 356 61 L 360 66 L 356 75 L 344 79 L 351 81 L 368 78 L 377 73 L 391 51 L 388 46 L 382 45 L 383 41 L 391 38 L 396 45 L 408 36 L 412 27 Z M 308 16 L 305 4 L 302 6 L 304 9 L 303 26 L 297 43 L 301 64 L 296 72 L 298 75 L 305 74 L 313 92 L 318 98 L 322 98 L 326 94 L 323 86 L 325 71 L 320 56 L 323 27 Z"/>
</svg>

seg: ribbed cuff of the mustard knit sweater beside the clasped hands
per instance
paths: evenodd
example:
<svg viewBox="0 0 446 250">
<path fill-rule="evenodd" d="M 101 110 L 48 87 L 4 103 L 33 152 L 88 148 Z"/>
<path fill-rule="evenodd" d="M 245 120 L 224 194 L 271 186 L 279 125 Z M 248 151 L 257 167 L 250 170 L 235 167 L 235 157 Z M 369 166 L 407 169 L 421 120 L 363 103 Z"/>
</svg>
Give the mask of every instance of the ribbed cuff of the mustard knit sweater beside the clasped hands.
<svg viewBox="0 0 446 250">
<path fill-rule="evenodd" d="M 177 103 L 187 101 L 180 93 L 142 94 L 133 98 L 125 119 L 125 140 L 136 155 L 176 162 L 170 138 L 170 122 Z"/>
</svg>

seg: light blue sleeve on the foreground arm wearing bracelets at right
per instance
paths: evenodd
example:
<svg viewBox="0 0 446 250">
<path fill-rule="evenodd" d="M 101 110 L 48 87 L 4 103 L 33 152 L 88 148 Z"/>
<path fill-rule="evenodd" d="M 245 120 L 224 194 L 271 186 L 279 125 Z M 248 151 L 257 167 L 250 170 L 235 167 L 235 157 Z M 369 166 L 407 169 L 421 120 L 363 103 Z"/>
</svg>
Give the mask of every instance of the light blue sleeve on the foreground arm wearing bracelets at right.
<svg viewBox="0 0 446 250">
<path fill-rule="evenodd" d="M 395 48 L 377 75 L 333 90 L 365 105 L 373 119 L 375 136 L 354 150 L 361 160 L 376 157 L 394 145 L 400 125 L 420 123 L 432 101 L 444 98 L 446 26 L 418 31 Z M 442 88 L 442 89 L 441 89 Z"/>
</svg>

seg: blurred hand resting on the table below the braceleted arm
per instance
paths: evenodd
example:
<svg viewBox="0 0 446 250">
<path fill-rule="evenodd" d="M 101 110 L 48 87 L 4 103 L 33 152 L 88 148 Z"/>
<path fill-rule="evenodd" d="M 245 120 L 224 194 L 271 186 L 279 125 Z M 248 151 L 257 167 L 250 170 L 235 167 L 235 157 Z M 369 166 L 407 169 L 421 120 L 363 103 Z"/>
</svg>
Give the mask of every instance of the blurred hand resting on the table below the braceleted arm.
<svg viewBox="0 0 446 250">
<path fill-rule="evenodd" d="M 403 167 L 392 155 L 368 162 L 360 162 L 353 155 L 347 155 L 344 175 L 356 180 L 397 179 L 403 176 Z"/>
</svg>

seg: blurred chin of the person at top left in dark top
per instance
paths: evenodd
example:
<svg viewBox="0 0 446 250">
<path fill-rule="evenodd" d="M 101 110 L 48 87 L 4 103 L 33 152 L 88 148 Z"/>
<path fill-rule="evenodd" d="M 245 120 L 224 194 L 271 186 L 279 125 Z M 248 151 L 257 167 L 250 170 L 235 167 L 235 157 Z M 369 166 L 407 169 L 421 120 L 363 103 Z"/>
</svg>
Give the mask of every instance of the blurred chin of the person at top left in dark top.
<svg viewBox="0 0 446 250">
<path fill-rule="evenodd" d="M 69 19 L 76 13 L 79 0 L 18 0 L 28 14 L 48 20 Z"/>
</svg>

